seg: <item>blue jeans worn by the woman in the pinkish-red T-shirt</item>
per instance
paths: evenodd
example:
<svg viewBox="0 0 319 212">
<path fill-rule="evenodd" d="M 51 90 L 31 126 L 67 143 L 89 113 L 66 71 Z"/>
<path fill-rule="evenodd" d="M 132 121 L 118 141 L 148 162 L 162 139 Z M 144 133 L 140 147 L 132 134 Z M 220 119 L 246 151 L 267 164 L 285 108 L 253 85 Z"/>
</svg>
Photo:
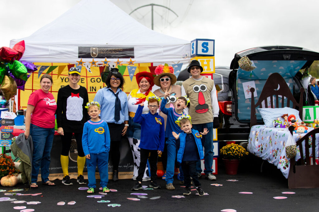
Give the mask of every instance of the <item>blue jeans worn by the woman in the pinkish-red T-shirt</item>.
<svg viewBox="0 0 319 212">
<path fill-rule="evenodd" d="M 30 135 L 33 140 L 31 183 L 38 181 L 41 167 L 41 179 L 45 183 L 49 180 L 50 154 L 54 138 L 54 128 L 43 128 L 30 124 Z"/>
</svg>

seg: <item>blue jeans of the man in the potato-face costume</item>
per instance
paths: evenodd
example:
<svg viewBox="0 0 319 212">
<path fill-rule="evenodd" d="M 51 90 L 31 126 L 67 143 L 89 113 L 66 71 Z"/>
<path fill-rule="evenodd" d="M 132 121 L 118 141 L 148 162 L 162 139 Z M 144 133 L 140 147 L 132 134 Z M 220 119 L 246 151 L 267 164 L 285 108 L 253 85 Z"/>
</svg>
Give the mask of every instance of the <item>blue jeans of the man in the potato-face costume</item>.
<svg viewBox="0 0 319 212">
<path fill-rule="evenodd" d="M 203 132 L 204 128 L 207 128 L 209 131 L 206 135 L 202 137 L 202 144 L 204 147 L 204 173 L 212 173 L 213 169 L 211 168 L 213 165 L 213 158 L 214 158 L 214 145 L 213 145 L 213 122 L 204 123 L 204 124 L 193 124 L 193 129 L 197 130 L 198 132 Z M 201 162 L 197 161 L 197 168 L 196 171 L 198 173 L 202 172 Z"/>
</svg>

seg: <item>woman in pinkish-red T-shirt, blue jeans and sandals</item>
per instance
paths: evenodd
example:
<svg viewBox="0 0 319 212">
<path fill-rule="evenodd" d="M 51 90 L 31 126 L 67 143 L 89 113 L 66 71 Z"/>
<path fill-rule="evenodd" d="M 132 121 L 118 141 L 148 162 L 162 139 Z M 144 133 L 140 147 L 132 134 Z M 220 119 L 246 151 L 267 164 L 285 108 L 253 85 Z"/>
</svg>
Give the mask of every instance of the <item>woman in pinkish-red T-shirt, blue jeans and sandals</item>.
<svg viewBox="0 0 319 212">
<path fill-rule="evenodd" d="M 38 174 L 41 167 L 42 184 L 56 186 L 49 181 L 50 153 L 54 137 L 56 100 L 49 90 L 52 77 L 44 74 L 40 80 L 41 89 L 31 93 L 26 108 L 25 137 L 32 136 L 33 155 L 30 188 L 38 188 Z"/>
</svg>

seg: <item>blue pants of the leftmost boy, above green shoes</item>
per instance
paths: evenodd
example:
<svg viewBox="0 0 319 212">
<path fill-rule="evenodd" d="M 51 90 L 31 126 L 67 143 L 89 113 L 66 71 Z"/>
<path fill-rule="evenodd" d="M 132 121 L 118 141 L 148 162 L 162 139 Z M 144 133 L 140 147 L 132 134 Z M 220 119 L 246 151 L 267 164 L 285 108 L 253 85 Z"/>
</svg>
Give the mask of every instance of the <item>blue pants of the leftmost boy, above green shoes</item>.
<svg viewBox="0 0 319 212">
<path fill-rule="evenodd" d="M 90 153 L 91 159 L 86 159 L 88 187 L 96 188 L 95 168 L 98 166 L 100 173 L 100 186 L 108 186 L 108 152 L 99 154 Z"/>
</svg>

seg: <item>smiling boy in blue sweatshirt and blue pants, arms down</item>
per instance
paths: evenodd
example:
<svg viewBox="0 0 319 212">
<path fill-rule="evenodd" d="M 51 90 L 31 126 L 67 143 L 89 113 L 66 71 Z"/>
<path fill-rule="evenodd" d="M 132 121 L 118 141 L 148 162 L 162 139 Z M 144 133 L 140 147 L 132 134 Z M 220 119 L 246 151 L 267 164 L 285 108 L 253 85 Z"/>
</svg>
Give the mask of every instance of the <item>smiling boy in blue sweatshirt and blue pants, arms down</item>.
<svg viewBox="0 0 319 212">
<path fill-rule="evenodd" d="M 100 105 L 98 102 L 87 103 L 88 114 L 91 120 L 84 124 L 82 135 L 82 147 L 86 157 L 87 177 L 89 180 L 86 193 L 93 194 L 96 188 L 95 168 L 99 168 L 100 186 L 103 192 L 108 189 L 108 152 L 110 151 L 110 132 L 108 124 L 99 119 Z"/>
</svg>

